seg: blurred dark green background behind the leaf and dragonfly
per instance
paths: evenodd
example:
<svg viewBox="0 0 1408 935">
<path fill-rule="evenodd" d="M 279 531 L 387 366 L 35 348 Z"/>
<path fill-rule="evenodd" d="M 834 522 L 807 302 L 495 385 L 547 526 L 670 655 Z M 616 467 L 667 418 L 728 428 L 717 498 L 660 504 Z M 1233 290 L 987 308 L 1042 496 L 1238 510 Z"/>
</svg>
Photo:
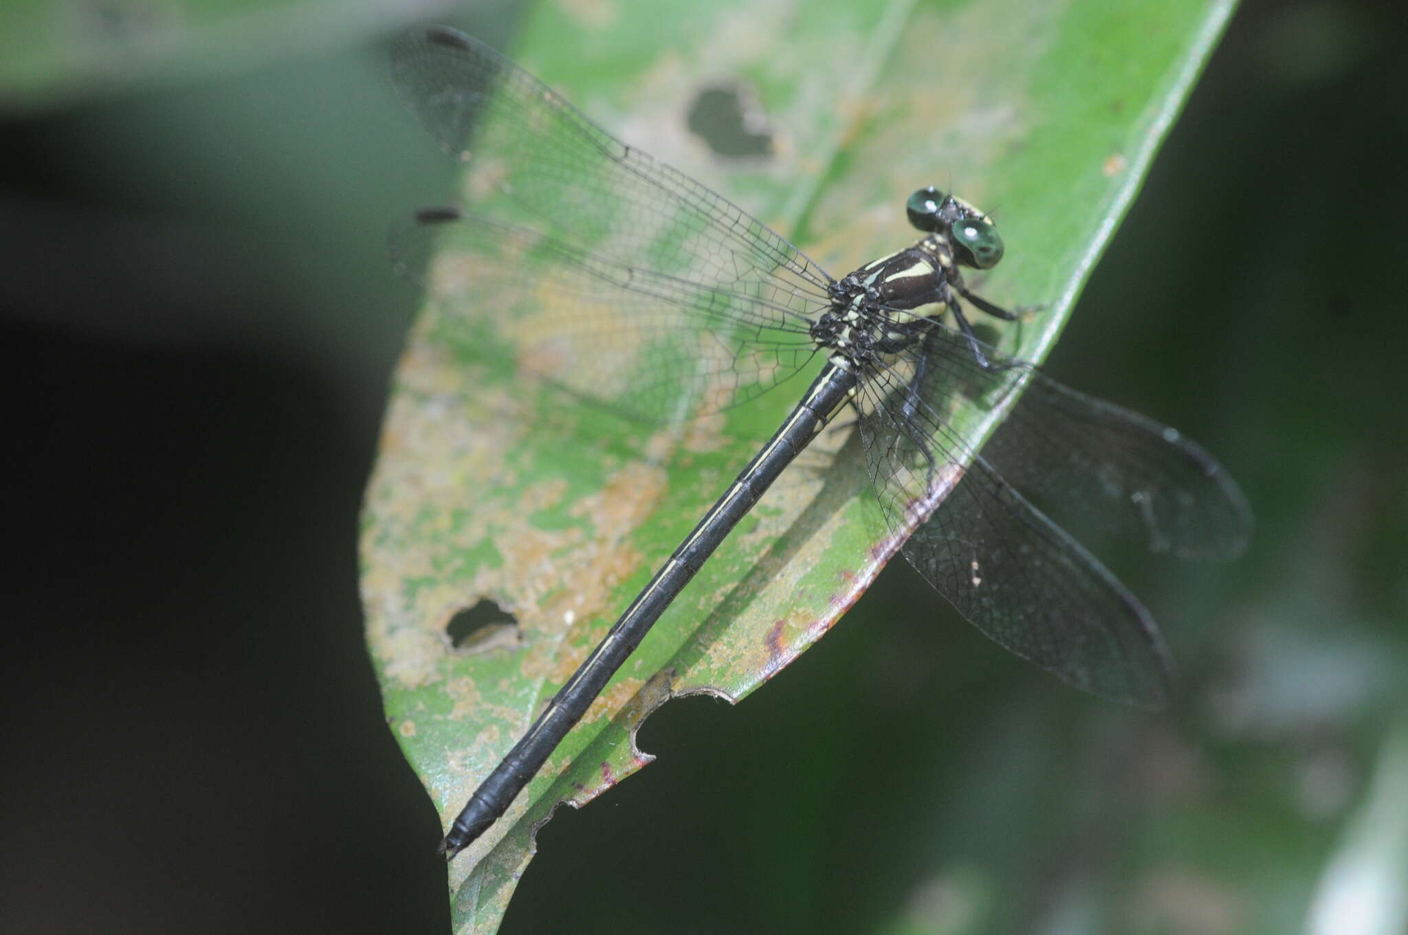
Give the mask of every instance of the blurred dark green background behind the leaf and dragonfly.
<svg viewBox="0 0 1408 935">
<path fill-rule="evenodd" d="M 189 42 L 153 41 L 177 13 Z M 0 929 L 448 929 L 358 607 L 417 301 L 384 231 L 453 169 L 384 42 L 511 48 L 517 15 L 0 13 Z M 745 704 L 655 714 L 656 763 L 556 815 L 503 931 L 1408 931 L 1400 18 L 1245 3 L 1048 365 L 1256 510 L 1236 565 L 1114 563 L 1183 703 L 1063 689 L 895 563 Z M 779 800 L 800 769 L 814 800 Z"/>
</svg>

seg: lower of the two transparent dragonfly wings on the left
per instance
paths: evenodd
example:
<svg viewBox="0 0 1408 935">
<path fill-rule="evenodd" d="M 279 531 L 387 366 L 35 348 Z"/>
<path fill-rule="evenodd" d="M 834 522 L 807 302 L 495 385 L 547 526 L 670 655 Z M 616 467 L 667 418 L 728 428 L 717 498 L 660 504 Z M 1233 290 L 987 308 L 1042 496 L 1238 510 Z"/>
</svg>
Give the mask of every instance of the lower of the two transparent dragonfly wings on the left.
<svg viewBox="0 0 1408 935">
<path fill-rule="evenodd" d="M 445 342 L 472 355 L 493 348 L 520 372 L 635 420 L 667 424 L 745 403 L 817 352 L 808 322 L 756 296 L 455 208 L 418 211 L 393 231 L 391 252 L 410 275 L 434 263 Z"/>
</svg>

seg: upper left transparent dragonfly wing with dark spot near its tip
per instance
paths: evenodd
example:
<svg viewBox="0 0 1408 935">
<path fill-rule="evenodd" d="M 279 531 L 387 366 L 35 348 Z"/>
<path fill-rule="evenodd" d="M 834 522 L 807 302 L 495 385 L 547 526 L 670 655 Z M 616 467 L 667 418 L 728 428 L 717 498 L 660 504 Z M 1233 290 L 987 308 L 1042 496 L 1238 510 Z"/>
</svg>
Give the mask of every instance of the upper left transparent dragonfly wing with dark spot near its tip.
<svg viewBox="0 0 1408 935">
<path fill-rule="evenodd" d="M 727 199 L 617 141 L 491 48 L 446 27 L 401 38 L 391 75 L 441 145 L 470 163 L 469 213 L 552 231 L 601 256 L 728 284 L 812 315 L 831 277 Z"/>
</svg>

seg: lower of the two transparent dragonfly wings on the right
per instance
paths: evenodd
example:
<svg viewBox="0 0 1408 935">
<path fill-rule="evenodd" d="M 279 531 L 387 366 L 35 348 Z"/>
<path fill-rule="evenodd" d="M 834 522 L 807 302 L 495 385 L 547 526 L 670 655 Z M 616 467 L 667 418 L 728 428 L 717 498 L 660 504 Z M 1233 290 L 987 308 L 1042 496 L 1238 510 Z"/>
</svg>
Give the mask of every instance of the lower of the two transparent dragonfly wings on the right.
<svg viewBox="0 0 1408 935">
<path fill-rule="evenodd" d="M 1163 705 L 1173 665 L 1149 613 L 962 441 L 973 425 L 959 404 L 974 382 L 1002 400 L 1029 373 L 981 372 L 967 353 L 966 366 L 931 356 L 924 379 L 879 370 L 866 382 L 866 463 L 887 525 L 908 534 L 904 556 L 1018 656 L 1094 694 Z"/>
</svg>

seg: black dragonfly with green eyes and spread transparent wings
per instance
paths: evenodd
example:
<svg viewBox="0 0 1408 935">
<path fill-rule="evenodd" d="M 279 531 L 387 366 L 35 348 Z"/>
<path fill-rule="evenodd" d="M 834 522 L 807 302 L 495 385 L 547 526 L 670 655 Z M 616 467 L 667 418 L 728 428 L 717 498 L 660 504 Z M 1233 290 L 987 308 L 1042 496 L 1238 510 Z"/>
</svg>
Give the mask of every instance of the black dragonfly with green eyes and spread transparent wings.
<svg viewBox="0 0 1408 935">
<path fill-rule="evenodd" d="M 993 220 L 936 187 L 905 203 L 919 239 L 839 279 L 732 201 L 628 146 L 541 80 L 448 27 L 403 37 L 404 103 L 469 165 L 459 204 L 393 235 L 401 270 L 458 259 L 480 320 L 518 365 L 627 418 L 679 425 L 817 373 L 777 431 L 665 559 L 470 796 L 441 852 L 482 836 L 542 769 L 660 614 L 842 410 L 879 513 L 910 563 L 993 641 L 1062 680 L 1160 707 L 1173 666 L 1149 611 L 1036 504 L 1180 558 L 1232 559 L 1252 514 L 1176 429 L 1083 396 L 980 339 L 972 315 Z M 455 270 L 459 270 L 458 273 Z M 469 313 L 466 313 L 469 314 Z M 517 331 L 515 331 L 517 330 Z M 981 451 L 956 403 L 998 414 Z"/>
</svg>

